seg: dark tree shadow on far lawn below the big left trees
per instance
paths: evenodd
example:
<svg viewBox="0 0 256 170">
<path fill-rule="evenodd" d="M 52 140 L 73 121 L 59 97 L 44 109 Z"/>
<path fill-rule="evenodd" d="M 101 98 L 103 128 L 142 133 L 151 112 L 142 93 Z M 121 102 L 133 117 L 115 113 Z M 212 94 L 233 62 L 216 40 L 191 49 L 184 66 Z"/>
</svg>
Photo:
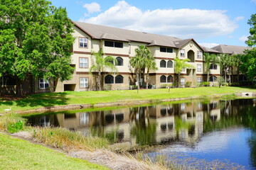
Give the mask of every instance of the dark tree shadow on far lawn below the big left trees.
<svg viewBox="0 0 256 170">
<path fill-rule="evenodd" d="M 52 107 L 58 105 L 68 104 L 67 93 L 46 93 L 46 94 L 32 94 L 25 98 L 20 98 L 16 101 L 4 101 L 0 99 L 0 106 L 19 106 L 19 107 Z"/>
</svg>

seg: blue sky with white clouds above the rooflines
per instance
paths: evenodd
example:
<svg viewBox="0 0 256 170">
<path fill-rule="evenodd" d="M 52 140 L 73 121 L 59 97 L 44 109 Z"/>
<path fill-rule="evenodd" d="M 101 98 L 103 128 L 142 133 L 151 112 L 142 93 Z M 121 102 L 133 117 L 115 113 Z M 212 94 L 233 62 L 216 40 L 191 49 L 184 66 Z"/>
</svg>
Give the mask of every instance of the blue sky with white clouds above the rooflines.
<svg viewBox="0 0 256 170">
<path fill-rule="evenodd" d="M 246 46 L 256 0 L 49 0 L 73 21 L 193 38 L 200 45 Z"/>
</svg>

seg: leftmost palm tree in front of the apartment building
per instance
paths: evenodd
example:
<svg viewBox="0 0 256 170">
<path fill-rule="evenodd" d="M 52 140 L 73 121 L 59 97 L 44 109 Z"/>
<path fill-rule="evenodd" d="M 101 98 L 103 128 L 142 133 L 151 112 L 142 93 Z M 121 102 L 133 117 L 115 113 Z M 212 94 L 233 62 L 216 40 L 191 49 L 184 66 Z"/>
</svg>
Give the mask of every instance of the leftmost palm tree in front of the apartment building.
<svg viewBox="0 0 256 170">
<path fill-rule="evenodd" d="M 104 57 L 104 52 L 102 48 L 100 48 L 98 52 L 92 51 L 92 55 L 95 56 L 95 61 L 92 60 L 92 67 L 90 67 L 90 73 L 97 72 L 97 88 L 100 91 L 102 72 L 104 72 L 105 69 L 110 69 L 111 71 L 117 72 L 117 67 L 115 67 L 115 65 L 113 64 L 114 62 L 117 62 L 117 60 L 111 55 Z"/>
</svg>

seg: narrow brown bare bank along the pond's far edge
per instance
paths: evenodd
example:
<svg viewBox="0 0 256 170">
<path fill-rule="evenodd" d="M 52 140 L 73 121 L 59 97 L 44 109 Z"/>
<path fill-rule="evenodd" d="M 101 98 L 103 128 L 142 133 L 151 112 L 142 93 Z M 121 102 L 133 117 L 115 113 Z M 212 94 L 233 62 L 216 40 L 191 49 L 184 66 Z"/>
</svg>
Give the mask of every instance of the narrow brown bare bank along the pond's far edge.
<svg viewBox="0 0 256 170">
<path fill-rule="evenodd" d="M 118 101 L 118 102 L 108 102 L 108 103 L 95 103 L 95 104 L 70 104 L 64 106 L 50 106 L 50 107 L 43 107 L 43 108 L 36 108 L 33 110 L 28 111 L 16 111 L 15 113 L 21 115 L 27 115 L 31 113 L 48 113 L 48 112 L 58 112 L 58 111 L 70 111 L 70 110 L 79 110 L 85 108 L 108 108 L 108 107 L 118 107 L 118 106 L 139 106 L 143 104 L 156 104 L 156 103 L 163 103 L 163 102 L 171 102 L 171 101 L 185 101 L 185 100 L 193 100 L 193 99 L 209 99 L 209 98 L 230 98 L 231 95 L 235 97 L 240 97 L 242 93 L 228 93 L 228 94 L 213 94 L 210 96 L 191 96 L 186 98 L 164 98 L 164 99 L 149 99 L 149 100 L 129 100 L 129 101 Z M 251 93 L 251 96 L 248 97 L 255 97 L 256 93 Z M 233 97 L 233 96 L 231 96 Z"/>
</svg>

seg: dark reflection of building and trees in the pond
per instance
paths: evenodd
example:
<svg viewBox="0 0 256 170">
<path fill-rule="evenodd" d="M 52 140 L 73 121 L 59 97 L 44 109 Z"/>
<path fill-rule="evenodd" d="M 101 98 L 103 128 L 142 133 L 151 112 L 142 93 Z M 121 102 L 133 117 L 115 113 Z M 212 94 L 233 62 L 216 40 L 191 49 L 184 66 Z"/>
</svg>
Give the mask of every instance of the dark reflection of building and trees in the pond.
<svg viewBox="0 0 256 170">
<path fill-rule="evenodd" d="M 63 127 L 85 136 L 107 137 L 121 145 L 151 145 L 184 142 L 195 145 L 209 126 L 221 117 L 238 115 L 247 104 L 256 101 L 209 101 L 176 103 L 112 111 L 92 111 L 75 114 L 39 115 L 28 123 L 41 127 Z M 209 126 L 208 126 L 209 125 Z"/>
</svg>

